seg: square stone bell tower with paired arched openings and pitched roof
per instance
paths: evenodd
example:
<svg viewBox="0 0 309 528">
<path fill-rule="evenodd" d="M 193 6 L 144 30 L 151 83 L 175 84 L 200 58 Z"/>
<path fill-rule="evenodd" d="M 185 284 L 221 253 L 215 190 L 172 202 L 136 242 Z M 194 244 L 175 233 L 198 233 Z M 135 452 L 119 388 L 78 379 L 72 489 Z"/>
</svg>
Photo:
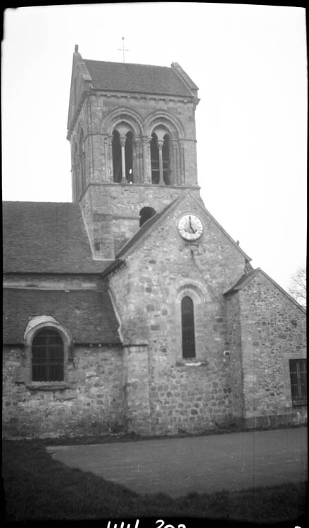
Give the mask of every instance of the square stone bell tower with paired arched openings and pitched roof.
<svg viewBox="0 0 309 528">
<path fill-rule="evenodd" d="M 96 259 L 113 259 L 184 189 L 199 196 L 196 84 L 170 68 L 83 59 L 75 46 L 68 140 L 72 200 Z"/>
</svg>

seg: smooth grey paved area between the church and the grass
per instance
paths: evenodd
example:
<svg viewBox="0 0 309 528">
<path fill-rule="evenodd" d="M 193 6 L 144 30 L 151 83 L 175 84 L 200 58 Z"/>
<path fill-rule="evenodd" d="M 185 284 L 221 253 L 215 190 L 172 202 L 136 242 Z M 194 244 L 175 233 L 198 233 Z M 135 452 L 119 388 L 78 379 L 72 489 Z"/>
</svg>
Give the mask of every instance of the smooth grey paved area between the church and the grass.
<svg viewBox="0 0 309 528">
<path fill-rule="evenodd" d="M 139 494 L 172 497 L 307 479 L 307 429 L 47 447 L 53 458 Z"/>
</svg>

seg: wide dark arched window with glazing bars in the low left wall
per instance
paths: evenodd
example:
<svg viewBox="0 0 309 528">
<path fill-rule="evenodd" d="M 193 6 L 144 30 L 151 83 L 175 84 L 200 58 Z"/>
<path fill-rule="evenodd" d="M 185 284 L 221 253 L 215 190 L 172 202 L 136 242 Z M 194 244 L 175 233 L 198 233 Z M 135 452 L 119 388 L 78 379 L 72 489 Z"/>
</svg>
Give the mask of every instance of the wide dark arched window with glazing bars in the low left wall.
<svg viewBox="0 0 309 528">
<path fill-rule="evenodd" d="M 56 329 L 44 327 L 32 340 L 32 381 L 62 382 L 63 367 L 63 339 Z"/>
</svg>

